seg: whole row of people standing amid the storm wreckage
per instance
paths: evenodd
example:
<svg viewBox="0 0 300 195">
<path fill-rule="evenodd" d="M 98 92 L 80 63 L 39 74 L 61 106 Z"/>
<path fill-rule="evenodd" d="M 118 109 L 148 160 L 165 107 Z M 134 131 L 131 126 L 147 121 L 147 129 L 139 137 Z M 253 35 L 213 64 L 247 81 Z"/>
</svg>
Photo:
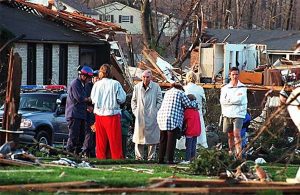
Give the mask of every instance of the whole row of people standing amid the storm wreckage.
<svg viewBox="0 0 300 195">
<path fill-rule="evenodd" d="M 241 138 L 238 133 L 246 115 L 247 94 L 244 85 L 236 79 L 236 74 L 238 69 L 230 71 L 232 81 L 222 88 L 220 101 L 224 130 L 230 136 L 230 152 L 235 146 L 239 155 L 241 147 L 237 143 L 241 142 Z M 91 82 L 93 76 L 99 80 Z M 186 138 L 186 162 L 196 156 L 197 144 L 208 147 L 203 118 L 206 98 L 203 88 L 195 84 L 196 80 L 195 73 L 187 73 L 187 84 L 183 87 L 173 83 L 163 97 L 160 86 L 152 81 L 152 72 L 145 70 L 142 73 L 142 82 L 134 86 L 130 101 L 135 117 L 132 141 L 135 143 L 136 160 L 154 160 L 159 144 L 158 162 L 175 163 L 176 139 L 181 135 Z M 68 89 L 67 150 L 77 154 L 91 154 L 91 148 L 94 147 L 98 159 L 126 157 L 126 137 L 122 141 L 121 130 L 126 120 L 122 120 L 122 116 L 130 120 L 132 117 L 121 110 L 120 106 L 124 107 L 125 100 L 126 93 L 121 84 L 111 78 L 110 65 L 102 65 L 97 75 L 90 67 L 82 67 L 78 78 L 72 81 Z M 93 129 L 96 134 L 95 145 L 92 144 Z"/>
</svg>

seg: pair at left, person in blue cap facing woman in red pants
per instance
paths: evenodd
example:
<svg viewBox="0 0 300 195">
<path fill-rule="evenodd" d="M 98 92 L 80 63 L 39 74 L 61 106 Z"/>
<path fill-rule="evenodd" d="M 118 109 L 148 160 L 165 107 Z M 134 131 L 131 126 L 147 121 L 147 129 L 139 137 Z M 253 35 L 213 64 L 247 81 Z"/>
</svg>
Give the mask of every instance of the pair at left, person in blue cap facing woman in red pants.
<svg viewBox="0 0 300 195">
<path fill-rule="evenodd" d="M 121 84 L 110 77 L 110 65 L 103 64 L 94 73 L 90 67 L 83 66 L 68 88 L 67 151 L 90 156 L 95 149 L 99 159 L 122 159 L 120 104 L 125 102 L 126 93 Z M 91 82 L 92 77 L 95 82 Z M 93 130 L 96 138 L 92 136 Z"/>
</svg>

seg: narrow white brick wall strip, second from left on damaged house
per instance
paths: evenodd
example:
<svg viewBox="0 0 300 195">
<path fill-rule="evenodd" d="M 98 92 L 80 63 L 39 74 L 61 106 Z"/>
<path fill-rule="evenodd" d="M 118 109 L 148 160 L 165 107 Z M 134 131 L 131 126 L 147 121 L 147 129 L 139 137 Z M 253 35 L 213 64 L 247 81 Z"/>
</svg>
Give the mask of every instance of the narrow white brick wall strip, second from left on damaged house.
<svg viewBox="0 0 300 195">
<path fill-rule="evenodd" d="M 44 77 L 44 46 L 36 45 L 36 84 L 42 85 Z"/>
</svg>

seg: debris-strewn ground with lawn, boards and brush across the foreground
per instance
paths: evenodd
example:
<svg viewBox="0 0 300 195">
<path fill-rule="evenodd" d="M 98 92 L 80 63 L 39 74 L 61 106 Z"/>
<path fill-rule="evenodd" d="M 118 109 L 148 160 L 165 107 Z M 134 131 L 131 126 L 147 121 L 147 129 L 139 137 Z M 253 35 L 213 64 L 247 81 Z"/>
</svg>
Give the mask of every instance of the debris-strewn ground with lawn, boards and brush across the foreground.
<svg viewBox="0 0 300 195">
<path fill-rule="evenodd" d="M 256 193 L 266 189 L 300 192 L 299 184 L 285 182 L 295 178 L 300 163 L 299 136 L 285 113 L 273 116 L 275 110 L 267 110 L 270 124 L 266 123 L 268 120 L 254 124 L 257 122 L 253 120 L 245 151 L 247 160 L 237 161 L 229 156 L 226 135 L 220 131 L 219 91 L 207 90 L 206 97 L 209 149 L 199 148 L 198 157 L 190 164 L 135 161 L 130 152 L 129 159 L 119 161 L 81 159 L 65 150 L 36 143 L 21 147 L 23 151 L 11 158 L 0 158 L 0 191 L 188 193 L 197 186 L 198 193 Z M 253 112 L 253 118 L 262 110 L 257 108 L 250 107 L 250 111 L 258 113 Z M 131 138 L 128 139 L 129 151 L 134 151 Z M 176 150 L 175 160 L 182 161 L 183 155 L 184 151 Z"/>
</svg>

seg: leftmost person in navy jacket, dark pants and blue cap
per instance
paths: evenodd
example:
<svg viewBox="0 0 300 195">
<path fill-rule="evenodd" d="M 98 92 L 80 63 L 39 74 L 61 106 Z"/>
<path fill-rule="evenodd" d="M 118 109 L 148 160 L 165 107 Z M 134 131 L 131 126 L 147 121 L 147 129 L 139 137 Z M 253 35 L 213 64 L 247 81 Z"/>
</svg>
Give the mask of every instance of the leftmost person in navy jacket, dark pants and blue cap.
<svg viewBox="0 0 300 195">
<path fill-rule="evenodd" d="M 78 78 L 74 79 L 68 89 L 66 103 L 66 120 L 69 128 L 67 151 L 79 154 L 84 141 L 84 130 L 87 114 L 87 103 L 90 98 L 85 91 L 85 84 L 93 76 L 93 69 L 83 66 L 78 71 Z"/>
</svg>

